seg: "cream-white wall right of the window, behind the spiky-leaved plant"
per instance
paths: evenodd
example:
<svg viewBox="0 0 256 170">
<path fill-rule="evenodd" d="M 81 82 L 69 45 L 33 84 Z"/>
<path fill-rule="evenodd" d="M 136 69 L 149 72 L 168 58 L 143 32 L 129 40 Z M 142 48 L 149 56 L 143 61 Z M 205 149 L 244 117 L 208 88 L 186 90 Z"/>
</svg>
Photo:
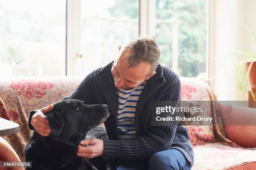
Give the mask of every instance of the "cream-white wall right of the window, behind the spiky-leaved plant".
<svg viewBox="0 0 256 170">
<path fill-rule="evenodd" d="M 249 33 L 243 25 L 256 31 L 256 0 L 210 0 L 210 79 L 218 100 L 247 100 L 236 83 L 236 72 L 228 71 L 237 59 L 228 60 L 236 50 L 252 50 Z"/>
</svg>

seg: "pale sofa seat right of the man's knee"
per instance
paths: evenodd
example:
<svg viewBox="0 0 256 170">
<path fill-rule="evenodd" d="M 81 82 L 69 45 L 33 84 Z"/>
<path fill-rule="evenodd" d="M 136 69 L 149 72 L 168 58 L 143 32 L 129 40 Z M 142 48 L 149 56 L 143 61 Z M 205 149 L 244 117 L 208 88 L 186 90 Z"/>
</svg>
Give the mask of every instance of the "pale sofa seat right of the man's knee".
<svg viewBox="0 0 256 170">
<path fill-rule="evenodd" d="M 195 164 L 192 170 L 223 170 L 225 168 L 229 170 L 229 168 L 243 167 L 256 169 L 256 150 L 230 147 L 221 144 L 221 142 L 193 146 L 193 149 Z M 246 164 L 246 162 L 251 163 Z"/>
</svg>

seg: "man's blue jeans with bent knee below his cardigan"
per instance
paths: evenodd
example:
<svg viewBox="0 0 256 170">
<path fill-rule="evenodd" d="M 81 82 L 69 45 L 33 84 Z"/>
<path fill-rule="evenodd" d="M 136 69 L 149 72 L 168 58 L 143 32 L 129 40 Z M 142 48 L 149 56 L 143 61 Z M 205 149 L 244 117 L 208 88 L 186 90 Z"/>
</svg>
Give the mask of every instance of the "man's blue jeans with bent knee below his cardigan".
<svg viewBox="0 0 256 170">
<path fill-rule="evenodd" d="M 123 160 L 116 170 L 191 170 L 182 152 L 176 149 L 154 154 L 149 160 Z"/>
</svg>

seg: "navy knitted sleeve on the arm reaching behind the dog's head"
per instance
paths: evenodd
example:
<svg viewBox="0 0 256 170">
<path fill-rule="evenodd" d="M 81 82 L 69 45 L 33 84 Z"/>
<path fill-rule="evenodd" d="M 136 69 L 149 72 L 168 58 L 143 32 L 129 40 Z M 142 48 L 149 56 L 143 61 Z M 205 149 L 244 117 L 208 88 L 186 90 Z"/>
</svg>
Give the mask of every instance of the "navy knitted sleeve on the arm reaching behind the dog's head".
<svg viewBox="0 0 256 170">
<path fill-rule="evenodd" d="M 62 98 L 63 100 L 65 99 L 77 99 L 77 100 L 82 100 L 86 104 L 90 104 L 90 86 L 92 84 L 92 77 L 93 74 L 90 73 L 88 76 L 84 78 L 84 80 L 77 86 L 77 88 L 70 94 L 69 96 L 66 96 Z M 39 110 L 39 109 L 38 109 Z M 29 112 L 28 115 L 28 128 L 30 130 L 35 130 L 34 127 L 31 124 L 31 119 L 32 116 L 38 111 L 38 110 L 33 110 Z"/>
</svg>

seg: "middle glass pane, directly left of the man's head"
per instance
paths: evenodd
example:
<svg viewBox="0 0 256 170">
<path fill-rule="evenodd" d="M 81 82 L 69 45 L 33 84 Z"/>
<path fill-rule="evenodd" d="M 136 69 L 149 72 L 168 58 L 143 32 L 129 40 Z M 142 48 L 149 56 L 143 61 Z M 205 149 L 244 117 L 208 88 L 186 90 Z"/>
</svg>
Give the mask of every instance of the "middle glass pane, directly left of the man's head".
<svg viewBox="0 0 256 170">
<path fill-rule="evenodd" d="M 81 1 L 84 74 L 110 63 L 120 45 L 138 38 L 138 5 L 138 0 Z"/>
</svg>

